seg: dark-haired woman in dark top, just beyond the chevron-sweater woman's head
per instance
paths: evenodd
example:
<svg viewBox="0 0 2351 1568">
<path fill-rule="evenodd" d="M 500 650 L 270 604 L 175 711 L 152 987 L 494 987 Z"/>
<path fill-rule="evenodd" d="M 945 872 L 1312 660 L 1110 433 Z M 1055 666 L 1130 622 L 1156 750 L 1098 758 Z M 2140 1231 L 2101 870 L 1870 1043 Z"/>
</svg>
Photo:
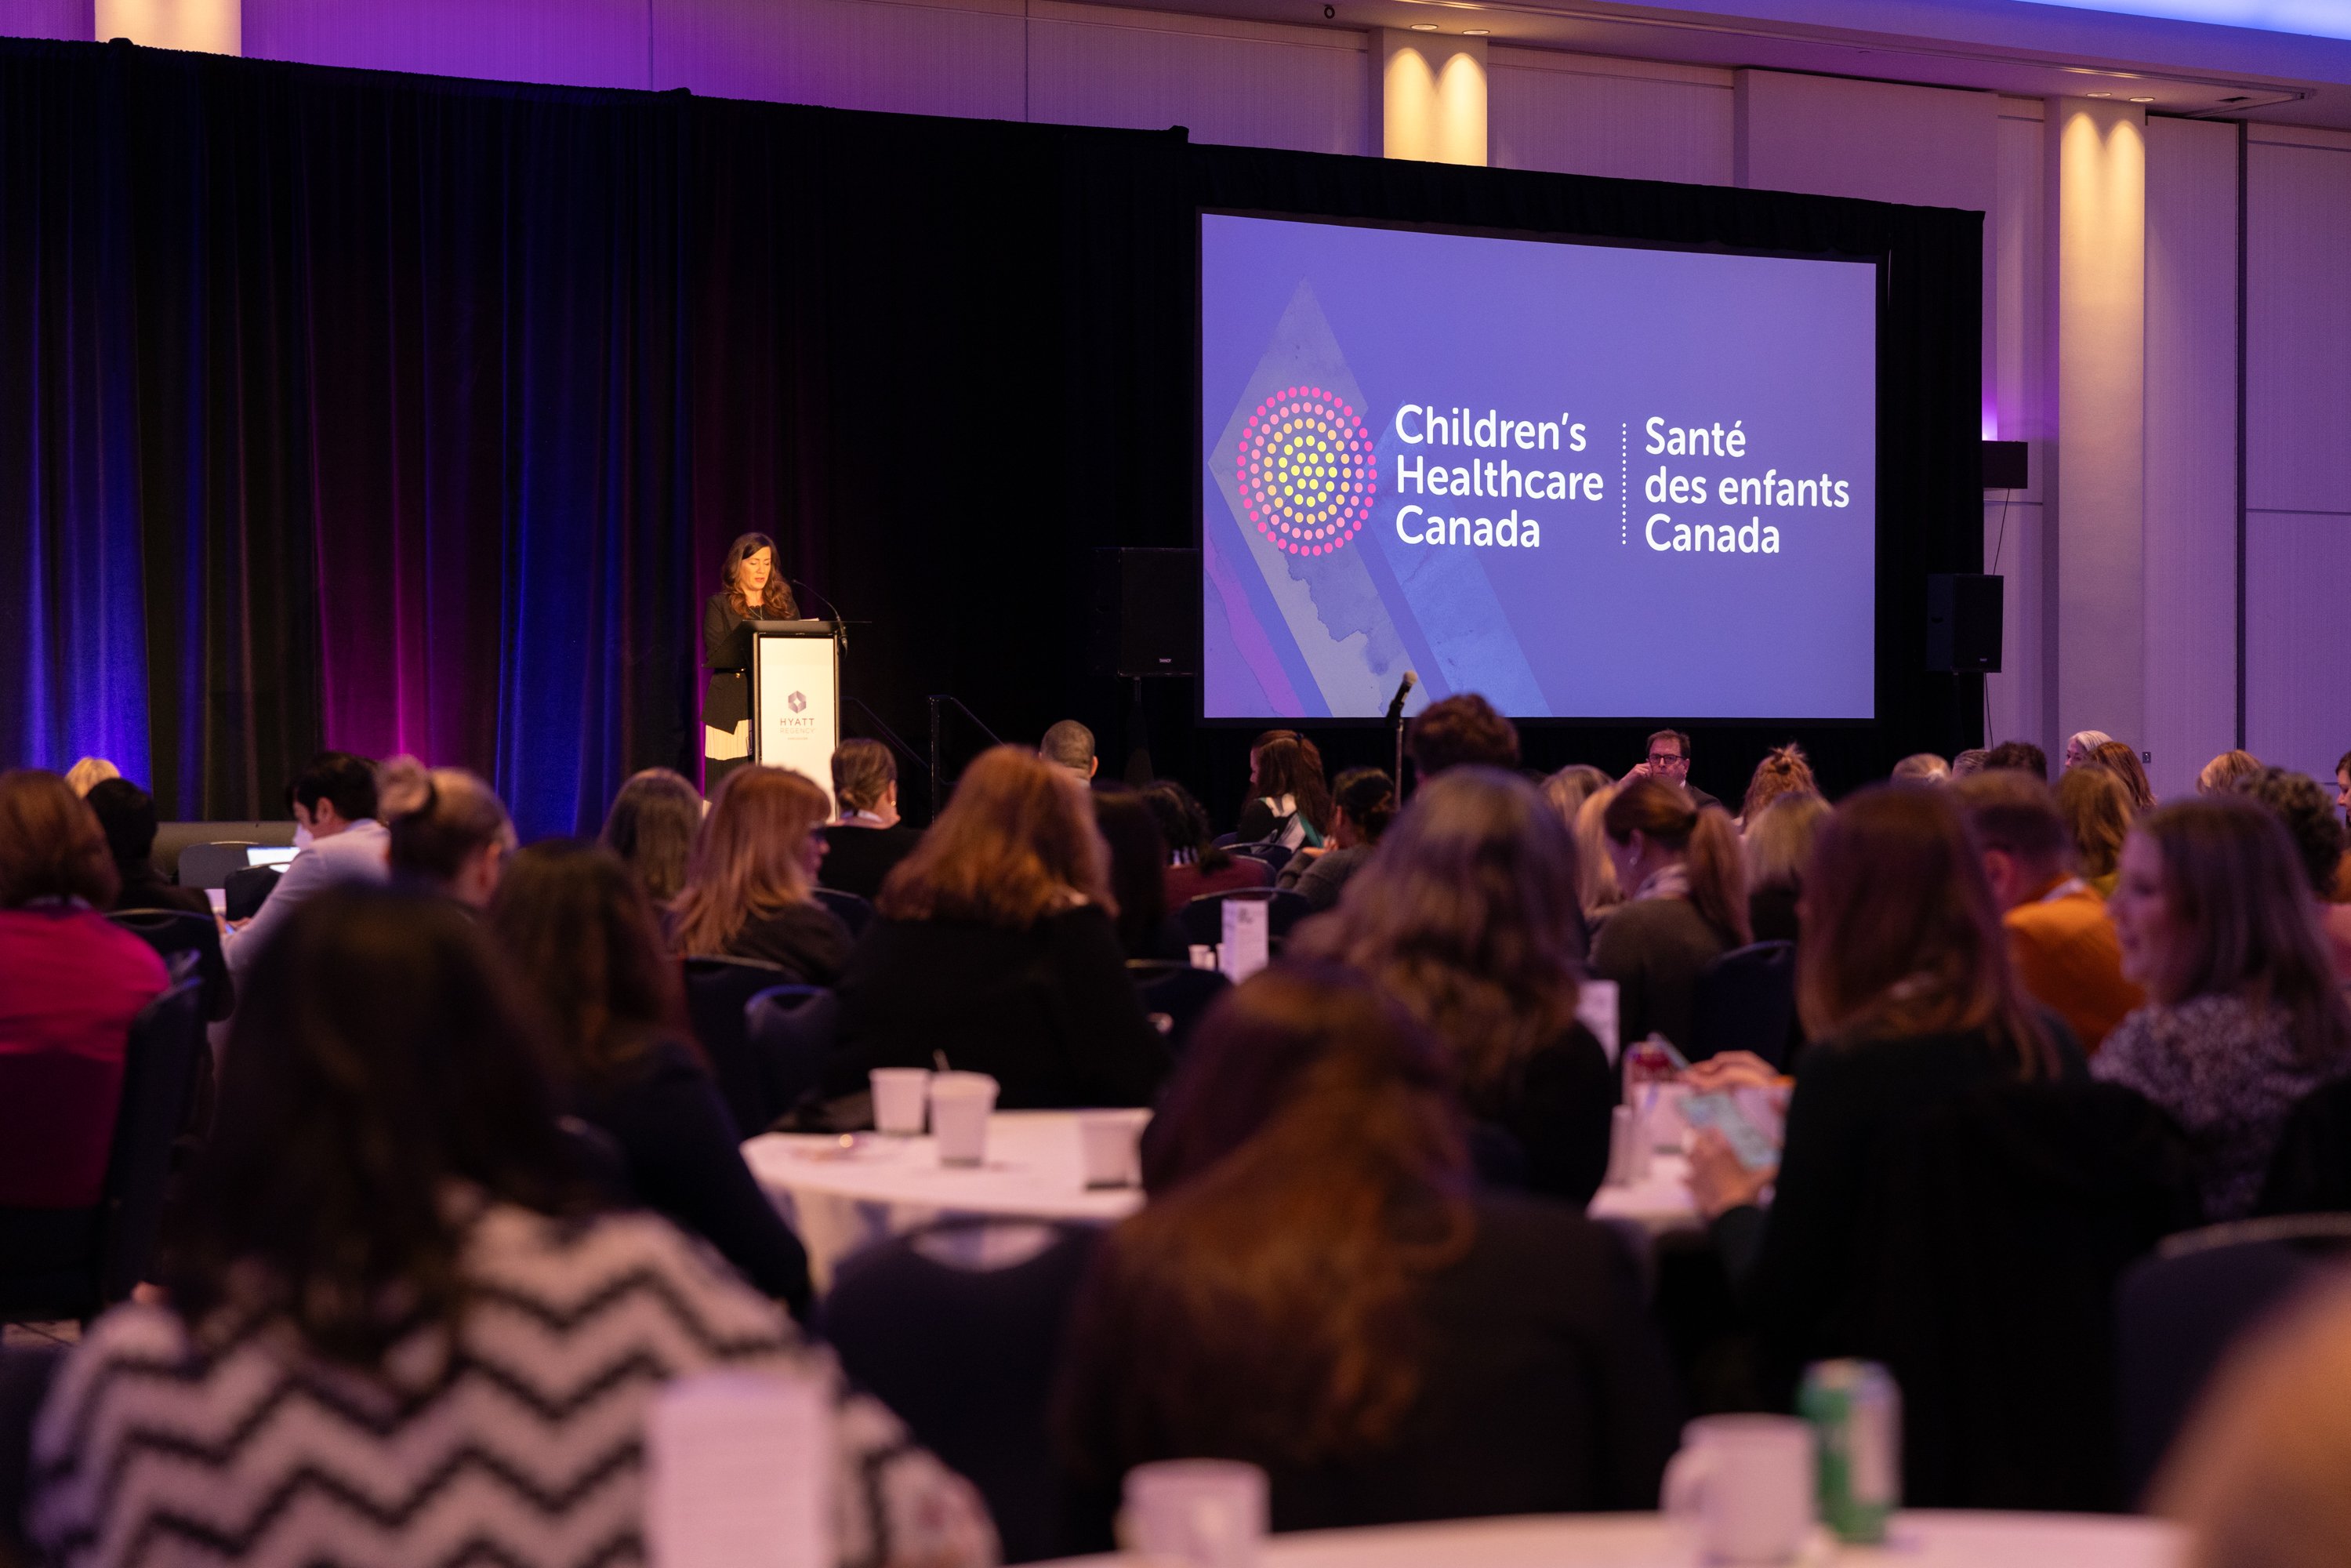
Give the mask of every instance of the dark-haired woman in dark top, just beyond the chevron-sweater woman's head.
<svg viewBox="0 0 2351 1568">
<path fill-rule="evenodd" d="M 809 1255 L 743 1164 L 630 870 L 592 844 L 534 844 L 505 870 L 489 931 L 550 1025 L 562 1103 L 621 1147 L 637 1201 L 806 1314 Z"/>
</svg>

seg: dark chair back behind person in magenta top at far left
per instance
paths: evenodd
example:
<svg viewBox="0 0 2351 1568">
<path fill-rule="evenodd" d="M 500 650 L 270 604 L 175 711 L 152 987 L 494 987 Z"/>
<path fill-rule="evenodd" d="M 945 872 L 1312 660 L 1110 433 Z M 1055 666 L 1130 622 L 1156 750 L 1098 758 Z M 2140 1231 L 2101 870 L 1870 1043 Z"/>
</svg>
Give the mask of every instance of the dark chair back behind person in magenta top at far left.
<svg viewBox="0 0 2351 1568">
<path fill-rule="evenodd" d="M 132 1020 L 129 1053 L 122 1063 L 122 1107 L 115 1112 L 115 1143 L 106 1157 L 106 1190 L 99 1199 L 101 1305 L 127 1298 L 155 1262 L 172 1145 L 188 1126 L 207 1053 L 200 999 L 195 978 L 179 980 Z"/>
</svg>

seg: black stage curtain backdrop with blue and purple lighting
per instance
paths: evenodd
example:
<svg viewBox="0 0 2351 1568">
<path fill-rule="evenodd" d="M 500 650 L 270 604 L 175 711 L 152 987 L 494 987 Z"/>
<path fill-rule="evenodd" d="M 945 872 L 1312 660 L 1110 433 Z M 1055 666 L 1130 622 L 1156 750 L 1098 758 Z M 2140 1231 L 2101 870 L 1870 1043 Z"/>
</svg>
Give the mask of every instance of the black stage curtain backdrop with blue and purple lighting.
<svg viewBox="0 0 2351 1568">
<path fill-rule="evenodd" d="M 745 529 L 863 623 L 851 731 L 919 745 L 955 693 L 1011 741 L 1081 717 L 1117 766 L 1089 552 L 1194 541 L 1204 205 L 1888 256 L 1883 719 L 1799 738 L 1831 785 L 1975 738 L 1975 684 L 1923 672 L 1921 578 L 1980 562 L 1977 214 L 115 45 L 0 45 L 0 80 L 42 87 L 0 115 L 0 317 L 54 308 L 40 256 L 120 256 L 73 301 L 89 374 L 0 369 L 0 423 L 136 494 L 110 529 L 0 496 L 108 583 L 7 583 L 47 618 L 0 630 L 0 745 L 99 750 L 92 710 L 143 701 L 165 811 L 273 813 L 334 743 L 473 766 L 524 835 L 592 827 L 628 771 L 691 773 L 698 602 Z M 108 388 L 134 418 L 73 418 Z M 1230 809 L 1248 733 L 1194 701 L 1150 684 L 1154 755 Z M 1528 762 L 1622 769 L 1646 729 L 1531 729 Z M 1704 731 L 1695 776 L 1735 795 L 1784 738 Z"/>
</svg>

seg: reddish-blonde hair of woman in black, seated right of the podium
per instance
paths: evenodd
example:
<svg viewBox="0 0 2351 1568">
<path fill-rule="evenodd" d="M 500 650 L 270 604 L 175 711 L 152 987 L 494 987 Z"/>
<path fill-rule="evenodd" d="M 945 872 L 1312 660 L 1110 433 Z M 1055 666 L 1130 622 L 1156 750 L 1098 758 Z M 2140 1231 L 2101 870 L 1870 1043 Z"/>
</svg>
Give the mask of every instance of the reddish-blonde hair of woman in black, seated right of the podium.
<svg viewBox="0 0 2351 1568">
<path fill-rule="evenodd" d="M 1112 919 L 1110 846 L 1086 785 L 1020 745 L 997 745 L 962 783 L 875 907 L 889 919 L 971 919 L 1032 926 L 1046 914 L 1098 903 Z"/>
</svg>

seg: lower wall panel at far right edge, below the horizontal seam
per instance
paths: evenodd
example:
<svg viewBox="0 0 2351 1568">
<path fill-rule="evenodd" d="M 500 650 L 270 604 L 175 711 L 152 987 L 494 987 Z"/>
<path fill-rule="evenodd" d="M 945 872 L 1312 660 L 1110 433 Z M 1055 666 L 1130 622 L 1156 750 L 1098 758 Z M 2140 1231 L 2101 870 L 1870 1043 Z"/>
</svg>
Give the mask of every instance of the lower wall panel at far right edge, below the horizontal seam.
<svg viewBox="0 0 2351 1568">
<path fill-rule="evenodd" d="M 2245 748 L 2323 783 L 2351 750 L 2351 517 L 2245 517 Z"/>
</svg>

